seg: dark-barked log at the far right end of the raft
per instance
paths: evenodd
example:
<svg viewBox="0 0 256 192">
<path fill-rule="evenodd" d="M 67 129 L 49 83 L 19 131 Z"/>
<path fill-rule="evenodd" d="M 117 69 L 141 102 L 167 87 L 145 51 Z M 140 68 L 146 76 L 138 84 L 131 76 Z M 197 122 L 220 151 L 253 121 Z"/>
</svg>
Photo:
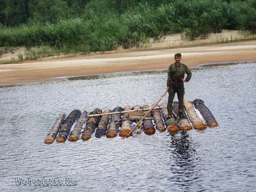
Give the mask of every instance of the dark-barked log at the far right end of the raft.
<svg viewBox="0 0 256 192">
<path fill-rule="evenodd" d="M 193 100 L 193 104 L 195 108 L 201 113 L 202 117 L 205 120 L 205 123 L 208 127 L 217 127 L 218 123 L 216 122 L 214 116 L 207 106 L 205 106 L 204 101 L 202 99 Z"/>
</svg>

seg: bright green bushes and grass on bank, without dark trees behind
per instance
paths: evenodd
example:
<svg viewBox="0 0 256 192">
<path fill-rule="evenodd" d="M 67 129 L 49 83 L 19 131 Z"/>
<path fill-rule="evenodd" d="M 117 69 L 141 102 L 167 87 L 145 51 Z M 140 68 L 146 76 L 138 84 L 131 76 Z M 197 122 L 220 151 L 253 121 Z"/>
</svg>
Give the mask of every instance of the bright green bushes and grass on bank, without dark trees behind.
<svg viewBox="0 0 256 192">
<path fill-rule="evenodd" d="M 13 47 L 25 46 L 19 61 L 36 60 L 60 54 L 105 52 L 117 47 L 147 45 L 152 38 L 161 41 L 167 35 L 180 33 L 193 41 L 207 38 L 222 29 L 250 31 L 244 39 L 255 39 L 256 1 L 173 1 L 152 6 L 138 4 L 123 13 L 108 9 L 106 4 L 90 4 L 83 15 L 75 19 L 60 19 L 56 23 L 34 23 L 17 28 L 0 28 L 0 54 Z M 238 40 L 234 37 L 230 41 Z M 227 39 L 217 40 L 227 42 Z M 35 48 L 36 49 L 33 49 Z M 38 49 L 40 48 L 40 49 Z"/>
</svg>

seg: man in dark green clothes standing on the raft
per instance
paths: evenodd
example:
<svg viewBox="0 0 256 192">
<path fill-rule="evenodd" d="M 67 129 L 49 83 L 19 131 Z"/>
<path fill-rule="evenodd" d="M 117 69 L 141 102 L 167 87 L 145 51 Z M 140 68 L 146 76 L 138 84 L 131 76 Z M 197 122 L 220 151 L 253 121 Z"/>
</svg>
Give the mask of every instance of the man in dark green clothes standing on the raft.
<svg viewBox="0 0 256 192">
<path fill-rule="evenodd" d="M 167 90 L 169 92 L 168 97 L 168 116 L 167 118 L 172 117 L 172 102 L 177 93 L 177 97 L 179 100 L 179 117 L 184 118 L 184 82 L 188 82 L 191 79 L 191 71 L 184 63 L 180 63 L 181 54 L 176 53 L 174 55 L 175 63 L 172 63 L 168 68 L 168 78 L 167 78 Z M 184 79 L 185 73 L 187 74 L 186 79 Z"/>
</svg>

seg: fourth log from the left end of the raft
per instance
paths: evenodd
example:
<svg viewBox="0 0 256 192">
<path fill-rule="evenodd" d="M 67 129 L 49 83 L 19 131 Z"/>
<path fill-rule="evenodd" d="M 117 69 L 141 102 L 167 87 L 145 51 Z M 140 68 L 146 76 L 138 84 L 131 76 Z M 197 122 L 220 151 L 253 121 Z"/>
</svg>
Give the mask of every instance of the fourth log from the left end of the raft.
<svg viewBox="0 0 256 192">
<path fill-rule="evenodd" d="M 101 114 L 102 111 L 99 108 L 94 109 L 90 114 Z M 92 134 L 95 131 L 96 127 L 98 126 L 100 121 L 100 116 L 92 116 L 88 118 L 84 131 L 82 133 L 82 140 L 83 141 L 88 141 L 90 138 L 92 138 Z"/>
</svg>

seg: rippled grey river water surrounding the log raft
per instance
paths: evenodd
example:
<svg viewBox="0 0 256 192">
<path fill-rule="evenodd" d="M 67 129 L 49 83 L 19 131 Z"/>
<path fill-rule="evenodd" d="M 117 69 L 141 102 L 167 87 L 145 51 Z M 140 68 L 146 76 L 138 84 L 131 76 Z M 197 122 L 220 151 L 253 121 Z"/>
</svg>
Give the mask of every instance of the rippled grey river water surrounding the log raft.
<svg viewBox="0 0 256 192">
<path fill-rule="evenodd" d="M 192 72 L 185 97 L 204 100 L 218 127 L 52 145 L 44 140 L 61 112 L 154 104 L 166 71 L 1 86 L 0 190 L 255 191 L 255 63 Z"/>
</svg>

